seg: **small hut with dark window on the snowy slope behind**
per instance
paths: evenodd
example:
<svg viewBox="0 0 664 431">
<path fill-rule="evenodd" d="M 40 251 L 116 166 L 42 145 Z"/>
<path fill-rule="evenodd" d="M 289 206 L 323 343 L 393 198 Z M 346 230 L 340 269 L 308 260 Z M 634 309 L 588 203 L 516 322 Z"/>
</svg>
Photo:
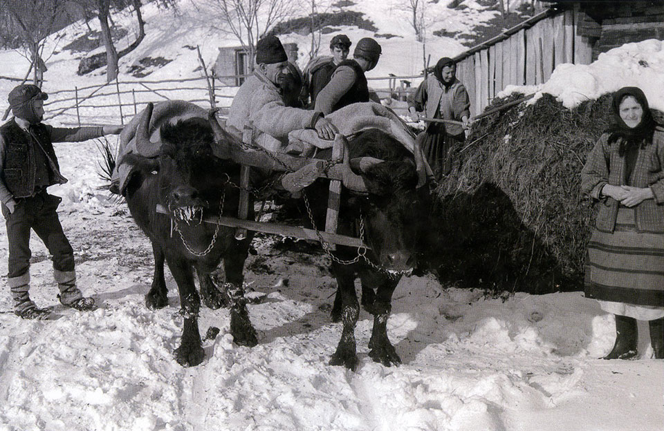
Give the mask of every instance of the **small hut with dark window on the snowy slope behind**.
<svg viewBox="0 0 664 431">
<path fill-rule="evenodd" d="M 284 44 L 288 61 L 297 63 L 297 44 Z M 219 48 L 212 72 L 225 86 L 241 86 L 246 75 L 253 70 L 253 59 L 248 59 L 247 50 L 241 46 Z"/>
</svg>

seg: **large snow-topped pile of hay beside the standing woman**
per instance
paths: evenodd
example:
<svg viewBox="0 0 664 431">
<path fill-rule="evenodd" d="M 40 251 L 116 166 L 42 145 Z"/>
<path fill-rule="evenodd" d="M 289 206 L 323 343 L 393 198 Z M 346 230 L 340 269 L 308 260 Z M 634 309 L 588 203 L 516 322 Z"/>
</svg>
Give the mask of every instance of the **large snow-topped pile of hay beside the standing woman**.
<svg viewBox="0 0 664 431">
<path fill-rule="evenodd" d="M 533 294 L 582 289 L 594 211 L 580 173 L 611 122 L 610 102 L 605 95 L 570 111 L 544 95 L 473 125 L 435 190 L 438 235 L 427 256 L 442 281 Z"/>
</svg>

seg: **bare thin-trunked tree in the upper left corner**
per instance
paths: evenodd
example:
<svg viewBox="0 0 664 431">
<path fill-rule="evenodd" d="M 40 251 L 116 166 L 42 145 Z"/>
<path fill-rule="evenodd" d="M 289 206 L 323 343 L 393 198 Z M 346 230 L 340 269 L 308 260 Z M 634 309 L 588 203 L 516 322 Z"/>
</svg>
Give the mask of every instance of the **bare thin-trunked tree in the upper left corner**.
<svg viewBox="0 0 664 431">
<path fill-rule="evenodd" d="M 46 37 L 66 14 L 65 4 L 66 0 L 0 0 L 0 38 L 6 46 L 26 50 L 35 85 L 44 81 Z"/>
</svg>

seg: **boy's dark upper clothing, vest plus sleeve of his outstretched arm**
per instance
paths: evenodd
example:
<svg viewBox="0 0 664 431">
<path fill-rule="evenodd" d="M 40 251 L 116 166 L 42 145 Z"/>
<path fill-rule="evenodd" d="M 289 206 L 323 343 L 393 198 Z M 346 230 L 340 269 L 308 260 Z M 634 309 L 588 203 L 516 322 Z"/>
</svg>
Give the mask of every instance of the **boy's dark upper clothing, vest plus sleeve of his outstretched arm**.
<svg viewBox="0 0 664 431">
<path fill-rule="evenodd" d="M 60 173 L 53 142 L 86 141 L 102 135 L 102 127 L 54 128 L 41 123 L 30 126 L 28 133 L 10 119 L 0 127 L 0 200 L 6 204 L 37 192 L 37 170 L 44 169 L 37 166 L 37 160 L 48 163 L 44 185 L 64 184 L 67 179 Z"/>
</svg>

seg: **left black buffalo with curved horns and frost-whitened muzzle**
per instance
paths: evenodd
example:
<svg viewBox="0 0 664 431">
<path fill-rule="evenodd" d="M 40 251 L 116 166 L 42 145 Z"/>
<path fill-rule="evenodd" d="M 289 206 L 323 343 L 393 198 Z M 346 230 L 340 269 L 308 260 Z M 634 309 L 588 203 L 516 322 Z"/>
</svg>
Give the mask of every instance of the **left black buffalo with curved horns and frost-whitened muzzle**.
<svg viewBox="0 0 664 431">
<path fill-rule="evenodd" d="M 169 103 L 169 102 L 163 102 Z M 230 330 L 234 342 L 253 346 L 257 337 L 243 296 L 243 266 L 252 240 L 234 238 L 234 229 L 201 222 L 203 218 L 237 215 L 239 166 L 214 157 L 230 140 L 217 139 L 210 120 L 202 117 L 168 121 L 151 131 L 152 104 L 142 112 L 136 128 L 136 146 L 154 146 L 151 134 L 159 135 L 156 157 L 128 153 L 118 160 L 131 166 L 122 194 L 138 227 L 149 237 L 154 253 L 154 278 L 145 303 L 150 309 L 168 305 L 164 262 L 178 285 L 184 317 L 181 345 L 175 351 L 181 365 L 203 361 L 198 314 L 201 296 L 205 305 L 216 309 L 230 302 Z M 216 119 L 214 120 L 216 123 Z M 218 124 L 215 124 L 218 126 Z M 152 127 L 155 128 L 154 126 Z M 153 133 L 151 133 L 153 132 Z M 215 142 L 217 141 L 217 142 Z M 157 212 L 157 205 L 169 214 Z M 250 215 L 252 215 L 250 204 Z M 226 295 L 216 289 L 210 273 L 223 260 Z M 201 296 L 194 285 L 194 269 Z"/>
</svg>

